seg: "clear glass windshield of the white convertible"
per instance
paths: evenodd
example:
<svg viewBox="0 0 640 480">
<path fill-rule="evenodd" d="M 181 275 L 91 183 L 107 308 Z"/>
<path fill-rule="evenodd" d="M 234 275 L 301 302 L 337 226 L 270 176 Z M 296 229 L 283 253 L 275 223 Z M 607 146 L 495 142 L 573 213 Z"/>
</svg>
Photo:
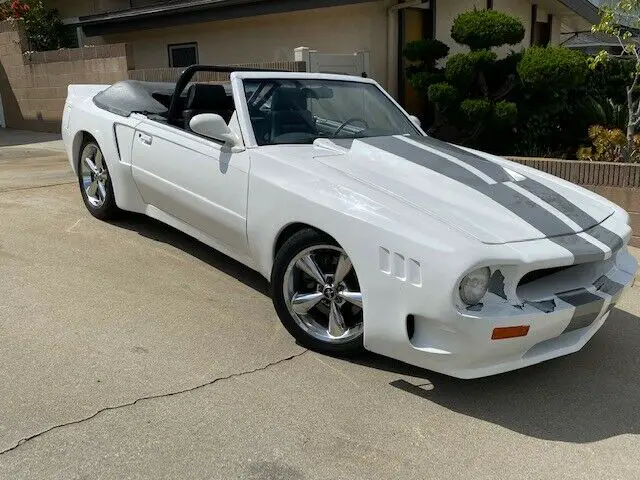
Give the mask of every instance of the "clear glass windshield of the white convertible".
<svg viewBox="0 0 640 480">
<path fill-rule="evenodd" d="M 378 87 L 340 80 L 244 80 L 258 145 L 419 134 Z"/>
</svg>

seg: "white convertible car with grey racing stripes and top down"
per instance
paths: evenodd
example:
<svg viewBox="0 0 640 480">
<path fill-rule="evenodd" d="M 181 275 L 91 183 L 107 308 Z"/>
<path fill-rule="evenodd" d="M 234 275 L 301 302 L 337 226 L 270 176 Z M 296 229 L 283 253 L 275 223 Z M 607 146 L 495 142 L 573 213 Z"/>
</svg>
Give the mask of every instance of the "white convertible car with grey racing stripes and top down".
<svg viewBox="0 0 640 480">
<path fill-rule="evenodd" d="M 369 79 L 73 85 L 63 136 L 92 215 L 144 213 L 257 270 L 320 352 L 497 374 L 579 350 L 635 278 L 622 209 L 426 136 Z"/>
</svg>

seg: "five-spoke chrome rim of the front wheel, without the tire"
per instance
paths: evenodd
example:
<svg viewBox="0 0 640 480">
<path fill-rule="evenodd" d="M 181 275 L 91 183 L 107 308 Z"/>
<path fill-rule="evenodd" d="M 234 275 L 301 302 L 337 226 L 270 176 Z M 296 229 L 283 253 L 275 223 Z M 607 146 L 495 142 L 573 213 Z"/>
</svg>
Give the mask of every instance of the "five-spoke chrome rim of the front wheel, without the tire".
<svg viewBox="0 0 640 480">
<path fill-rule="evenodd" d="M 300 252 L 287 267 L 283 293 L 289 313 L 313 338 L 340 344 L 362 335 L 362 293 L 343 249 L 316 245 Z"/>
</svg>

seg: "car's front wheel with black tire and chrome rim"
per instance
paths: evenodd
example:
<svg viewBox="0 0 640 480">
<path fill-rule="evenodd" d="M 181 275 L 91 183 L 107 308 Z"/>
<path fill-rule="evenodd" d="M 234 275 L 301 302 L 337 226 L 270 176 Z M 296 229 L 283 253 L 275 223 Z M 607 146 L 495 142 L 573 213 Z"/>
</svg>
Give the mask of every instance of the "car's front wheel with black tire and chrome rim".
<svg viewBox="0 0 640 480">
<path fill-rule="evenodd" d="M 289 238 L 276 255 L 271 289 L 282 324 L 302 346 L 339 355 L 363 350 L 358 277 L 329 236 L 305 229 Z"/>
</svg>

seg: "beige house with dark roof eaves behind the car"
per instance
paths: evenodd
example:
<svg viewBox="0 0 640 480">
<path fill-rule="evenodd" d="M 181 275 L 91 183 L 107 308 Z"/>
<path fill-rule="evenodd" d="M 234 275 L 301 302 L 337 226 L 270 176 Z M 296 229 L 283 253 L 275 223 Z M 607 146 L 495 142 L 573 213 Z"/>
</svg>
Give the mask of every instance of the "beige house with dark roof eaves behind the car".
<svg viewBox="0 0 640 480">
<path fill-rule="evenodd" d="M 455 17 L 474 8 L 501 10 L 526 28 L 522 45 L 560 44 L 589 30 L 598 11 L 589 0 L 49 0 L 77 28 L 81 44 L 128 43 L 136 68 L 193 62 L 233 64 L 293 60 L 296 47 L 369 52 L 368 75 L 398 97 L 403 46 L 437 38 L 452 52 Z"/>
</svg>

